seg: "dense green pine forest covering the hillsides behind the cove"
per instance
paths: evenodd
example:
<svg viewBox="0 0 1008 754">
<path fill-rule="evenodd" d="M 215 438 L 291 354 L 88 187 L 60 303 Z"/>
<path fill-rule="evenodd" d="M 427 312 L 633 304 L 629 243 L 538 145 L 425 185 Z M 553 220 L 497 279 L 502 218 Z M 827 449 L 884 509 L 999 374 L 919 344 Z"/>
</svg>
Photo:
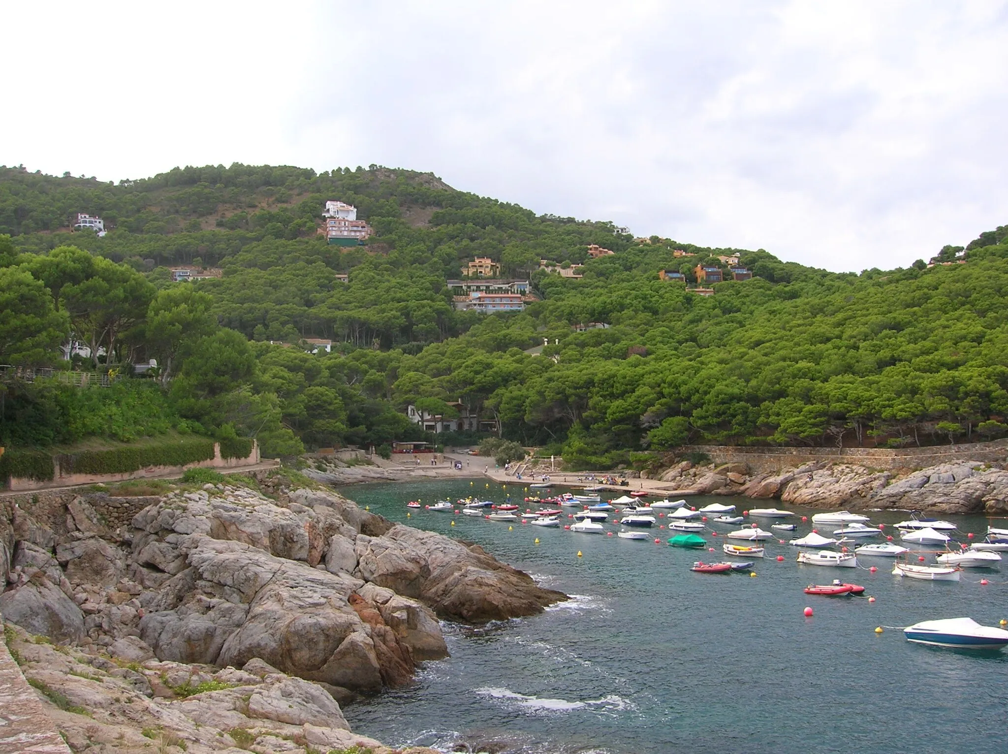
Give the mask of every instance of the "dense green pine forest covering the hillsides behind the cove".
<svg viewBox="0 0 1008 754">
<path fill-rule="evenodd" d="M 376 231 L 366 246 L 327 245 L 327 200 L 358 208 Z M 72 233 L 78 212 L 109 233 Z M 922 249 L 934 266 L 837 274 L 536 216 L 429 173 L 236 164 L 115 184 L 0 168 L 0 364 L 69 369 L 59 346 L 73 334 L 108 354 L 73 366 L 120 376 L 81 389 L 8 370 L 0 444 L 13 447 L 169 429 L 256 436 L 267 455 L 381 446 L 422 436 L 407 403 L 451 414 L 456 399 L 581 468 L 696 442 L 1008 433 L 1008 227 Z M 591 259 L 590 244 L 615 254 Z M 717 256 L 731 253 L 754 277 L 713 296 L 658 278 L 692 283 L 698 263 L 725 269 Z M 474 256 L 530 278 L 537 300 L 456 311 L 446 283 Z M 224 273 L 172 283 L 171 264 Z M 333 353 L 270 344 L 310 337 Z M 127 378 L 149 359 L 157 369 Z"/>
</svg>

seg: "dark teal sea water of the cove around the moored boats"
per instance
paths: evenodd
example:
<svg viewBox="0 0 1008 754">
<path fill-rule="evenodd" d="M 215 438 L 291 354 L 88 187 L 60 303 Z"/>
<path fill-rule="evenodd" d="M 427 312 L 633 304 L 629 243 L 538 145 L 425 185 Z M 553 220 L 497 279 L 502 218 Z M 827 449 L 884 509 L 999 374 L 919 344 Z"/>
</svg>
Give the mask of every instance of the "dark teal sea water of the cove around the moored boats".
<svg viewBox="0 0 1008 754">
<path fill-rule="evenodd" d="M 527 494 L 484 485 L 341 491 L 392 520 L 477 542 L 575 599 L 521 620 L 445 624 L 452 656 L 425 663 L 409 687 L 348 707 L 356 732 L 397 746 L 451 751 L 460 742 L 494 741 L 504 747 L 498 751 L 529 754 L 1008 751 L 1008 650 L 932 649 L 910 644 L 899 630 L 874 632 L 964 616 L 997 625 L 1008 618 L 1008 558 L 1001 571 L 967 570 L 958 584 L 930 583 L 892 576 L 891 558 L 859 557 L 877 566 L 875 574 L 799 566 L 796 548 L 772 540 L 767 557 L 755 560 L 755 578 L 702 575 L 689 571 L 697 559 L 734 559 L 709 531 L 703 535 L 714 553 L 669 547 L 670 534 L 657 528 L 661 544 L 517 522 L 509 531 L 507 523 L 422 509 L 406 517 L 410 499 L 477 492 L 498 502 L 512 493 L 521 502 Z M 689 499 L 696 507 L 710 502 L 741 511 L 752 501 Z M 816 512 L 789 509 L 809 519 Z M 869 515 L 873 524 L 908 517 Z M 798 536 L 811 529 L 799 516 L 789 519 Z M 988 524 L 979 516 L 950 520 L 964 541 L 965 532 L 979 535 Z M 758 522 L 769 530 L 771 521 Z M 817 528 L 830 536 L 840 526 Z M 864 585 L 876 602 L 802 592 L 837 578 Z M 982 586 L 982 578 L 990 583 Z M 812 618 L 803 616 L 806 606 Z"/>
</svg>

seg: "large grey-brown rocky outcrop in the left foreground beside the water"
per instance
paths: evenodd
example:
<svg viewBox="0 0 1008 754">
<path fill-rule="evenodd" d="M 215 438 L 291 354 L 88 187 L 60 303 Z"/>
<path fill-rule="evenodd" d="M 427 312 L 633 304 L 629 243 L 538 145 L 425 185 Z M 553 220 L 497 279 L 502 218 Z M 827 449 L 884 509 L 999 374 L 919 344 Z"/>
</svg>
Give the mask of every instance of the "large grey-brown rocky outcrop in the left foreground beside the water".
<svg viewBox="0 0 1008 754">
<path fill-rule="evenodd" d="M 219 484 L 143 502 L 115 528 L 108 495 L 2 503 L 7 643 L 76 752 L 389 752 L 340 705 L 446 656 L 442 619 L 568 599 L 331 491 Z"/>
</svg>

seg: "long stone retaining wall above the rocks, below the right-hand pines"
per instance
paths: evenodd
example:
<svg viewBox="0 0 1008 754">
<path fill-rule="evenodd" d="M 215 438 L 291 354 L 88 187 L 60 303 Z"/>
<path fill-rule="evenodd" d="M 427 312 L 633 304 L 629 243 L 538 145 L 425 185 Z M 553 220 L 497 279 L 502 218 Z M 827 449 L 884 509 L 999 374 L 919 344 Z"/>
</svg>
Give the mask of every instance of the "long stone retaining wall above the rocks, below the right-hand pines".
<svg viewBox="0 0 1008 754">
<path fill-rule="evenodd" d="M 754 474 L 767 474 L 802 464 L 826 461 L 856 464 L 869 469 L 904 471 L 926 469 L 957 461 L 1001 463 L 1008 459 L 1008 439 L 928 448 L 734 448 L 684 446 L 676 455 L 706 453 L 715 464 L 746 464 Z"/>
</svg>

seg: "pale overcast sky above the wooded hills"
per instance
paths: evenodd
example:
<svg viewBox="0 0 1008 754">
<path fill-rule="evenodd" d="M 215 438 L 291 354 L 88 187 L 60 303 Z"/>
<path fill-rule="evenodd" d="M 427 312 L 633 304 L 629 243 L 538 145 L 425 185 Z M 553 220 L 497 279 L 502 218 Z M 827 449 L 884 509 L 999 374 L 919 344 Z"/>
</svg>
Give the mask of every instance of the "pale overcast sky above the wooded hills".
<svg viewBox="0 0 1008 754">
<path fill-rule="evenodd" d="M 378 163 L 907 266 L 1008 223 L 1008 2 L 4 3 L 0 163 Z"/>
</svg>

